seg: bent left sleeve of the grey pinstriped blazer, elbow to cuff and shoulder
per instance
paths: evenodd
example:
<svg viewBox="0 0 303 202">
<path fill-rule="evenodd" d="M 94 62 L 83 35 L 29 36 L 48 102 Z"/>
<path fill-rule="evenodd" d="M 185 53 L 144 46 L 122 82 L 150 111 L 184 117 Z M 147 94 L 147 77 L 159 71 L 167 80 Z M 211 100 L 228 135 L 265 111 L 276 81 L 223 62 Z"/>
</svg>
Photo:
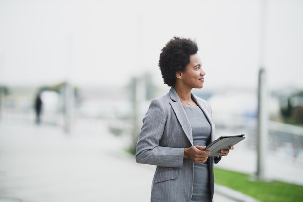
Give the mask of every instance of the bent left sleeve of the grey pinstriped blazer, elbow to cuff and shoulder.
<svg viewBox="0 0 303 202">
<path fill-rule="evenodd" d="M 144 118 L 136 145 L 136 162 L 163 167 L 183 165 L 184 148 L 160 146 L 167 123 L 165 104 L 160 99 L 152 100 Z"/>
</svg>

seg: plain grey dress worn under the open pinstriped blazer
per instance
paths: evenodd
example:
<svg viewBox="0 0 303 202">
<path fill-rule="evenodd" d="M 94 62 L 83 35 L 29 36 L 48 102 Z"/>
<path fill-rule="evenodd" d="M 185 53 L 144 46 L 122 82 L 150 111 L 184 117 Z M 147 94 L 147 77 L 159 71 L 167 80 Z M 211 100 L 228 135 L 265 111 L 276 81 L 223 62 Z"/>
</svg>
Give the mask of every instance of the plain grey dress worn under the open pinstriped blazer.
<svg viewBox="0 0 303 202">
<path fill-rule="evenodd" d="M 206 146 L 211 136 L 211 125 L 199 107 L 185 107 L 186 115 L 193 131 L 194 145 Z M 190 202 L 211 202 L 209 166 L 194 163 L 194 187 Z"/>
</svg>

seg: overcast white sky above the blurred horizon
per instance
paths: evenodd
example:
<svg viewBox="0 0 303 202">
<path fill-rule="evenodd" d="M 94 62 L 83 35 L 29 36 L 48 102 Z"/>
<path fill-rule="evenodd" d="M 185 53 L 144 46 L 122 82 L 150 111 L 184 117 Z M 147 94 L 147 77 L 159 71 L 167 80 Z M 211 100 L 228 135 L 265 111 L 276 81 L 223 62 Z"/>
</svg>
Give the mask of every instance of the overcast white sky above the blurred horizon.
<svg viewBox="0 0 303 202">
<path fill-rule="evenodd" d="M 0 84 L 124 85 L 161 48 L 195 38 L 205 88 L 256 87 L 262 0 L 0 0 Z M 267 0 L 264 66 L 271 88 L 303 88 L 303 1 Z"/>
</svg>

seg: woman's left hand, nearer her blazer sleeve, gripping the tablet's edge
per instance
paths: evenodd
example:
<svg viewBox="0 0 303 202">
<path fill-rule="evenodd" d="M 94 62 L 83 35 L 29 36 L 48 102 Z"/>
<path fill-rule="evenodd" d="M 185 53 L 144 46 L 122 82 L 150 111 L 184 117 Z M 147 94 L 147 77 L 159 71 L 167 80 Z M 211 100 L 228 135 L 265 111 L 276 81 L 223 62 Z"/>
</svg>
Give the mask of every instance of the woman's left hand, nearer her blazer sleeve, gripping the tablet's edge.
<svg viewBox="0 0 303 202">
<path fill-rule="evenodd" d="M 190 158 L 195 163 L 204 163 L 208 159 L 210 151 L 204 151 L 206 146 L 191 146 L 184 148 L 184 158 Z"/>
</svg>

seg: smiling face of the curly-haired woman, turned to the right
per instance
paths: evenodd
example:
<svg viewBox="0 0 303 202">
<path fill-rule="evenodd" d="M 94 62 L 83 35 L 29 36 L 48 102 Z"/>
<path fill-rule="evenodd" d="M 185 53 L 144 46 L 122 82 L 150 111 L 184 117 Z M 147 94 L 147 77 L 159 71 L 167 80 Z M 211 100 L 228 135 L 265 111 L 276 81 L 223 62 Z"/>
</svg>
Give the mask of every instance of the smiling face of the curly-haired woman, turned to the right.
<svg viewBox="0 0 303 202">
<path fill-rule="evenodd" d="M 203 88 L 204 75 L 201 58 L 198 54 L 190 56 L 190 63 L 186 66 L 185 71 L 181 72 L 183 83 L 190 88 Z"/>
</svg>

